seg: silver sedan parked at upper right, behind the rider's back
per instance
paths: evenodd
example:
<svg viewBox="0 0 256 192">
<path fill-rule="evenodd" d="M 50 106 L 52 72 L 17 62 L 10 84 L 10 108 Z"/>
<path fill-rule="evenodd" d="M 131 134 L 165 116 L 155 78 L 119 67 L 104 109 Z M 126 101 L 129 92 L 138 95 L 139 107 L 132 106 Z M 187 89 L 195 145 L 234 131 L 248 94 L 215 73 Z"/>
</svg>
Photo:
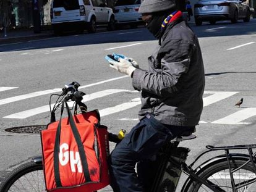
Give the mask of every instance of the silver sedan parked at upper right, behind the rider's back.
<svg viewBox="0 0 256 192">
<path fill-rule="evenodd" d="M 201 0 L 194 5 L 195 24 L 202 25 L 202 22 L 215 24 L 219 20 L 231 20 L 237 23 L 242 19 L 250 21 L 250 7 L 246 0 Z"/>
</svg>

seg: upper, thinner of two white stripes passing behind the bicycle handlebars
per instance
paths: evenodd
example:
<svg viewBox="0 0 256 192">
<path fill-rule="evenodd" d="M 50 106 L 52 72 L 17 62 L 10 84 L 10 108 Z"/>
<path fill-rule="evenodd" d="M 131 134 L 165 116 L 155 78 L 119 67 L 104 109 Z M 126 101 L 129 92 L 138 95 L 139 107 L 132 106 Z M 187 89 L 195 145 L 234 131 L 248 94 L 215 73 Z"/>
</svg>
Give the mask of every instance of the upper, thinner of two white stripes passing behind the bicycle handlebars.
<svg viewBox="0 0 256 192">
<path fill-rule="evenodd" d="M 124 75 L 124 76 L 121 76 L 121 77 L 111 78 L 109 80 L 99 81 L 97 83 L 92 83 L 92 84 L 89 84 L 89 85 L 80 86 L 80 89 L 81 88 L 87 88 L 87 87 L 90 87 L 90 86 L 100 85 L 102 83 L 106 83 L 106 82 L 114 81 L 114 80 L 119 80 L 121 78 L 126 78 L 126 77 L 129 77 L 129 76 Z M 42 96 L 44 94 L 56 93 L 56 92 L 61 92 L 61 91 L 62 91 L 62 89 L 56 88 L 56 89 L 53 89 L 53 90 L 36 91 L 34 93 L 22 94 L 20 96 L 14 96 L 12 98 L 1 99 L 0 100 L 0 106 L 3 105 L 3 104 L 10 103 L 10 102 L 20 101 L 20 100 L 28 99 L 28 98 L 35 98 L 36 96 Z"/>
</svg>

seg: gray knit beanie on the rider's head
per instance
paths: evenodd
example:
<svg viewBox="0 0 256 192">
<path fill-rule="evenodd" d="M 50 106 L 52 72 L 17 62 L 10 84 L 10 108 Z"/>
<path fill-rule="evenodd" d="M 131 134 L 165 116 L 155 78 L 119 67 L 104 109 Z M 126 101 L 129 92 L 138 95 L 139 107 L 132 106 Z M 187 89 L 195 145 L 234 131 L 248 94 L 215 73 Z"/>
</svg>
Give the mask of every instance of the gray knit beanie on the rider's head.
<svg viewBox="0 0 256 192">
<path fill-rule="evenodd" d="M 140 14 L 160 12 L 162 10 L 174 9 L 175 0 L 144 0 L 139 8 Z"/>
</svg>

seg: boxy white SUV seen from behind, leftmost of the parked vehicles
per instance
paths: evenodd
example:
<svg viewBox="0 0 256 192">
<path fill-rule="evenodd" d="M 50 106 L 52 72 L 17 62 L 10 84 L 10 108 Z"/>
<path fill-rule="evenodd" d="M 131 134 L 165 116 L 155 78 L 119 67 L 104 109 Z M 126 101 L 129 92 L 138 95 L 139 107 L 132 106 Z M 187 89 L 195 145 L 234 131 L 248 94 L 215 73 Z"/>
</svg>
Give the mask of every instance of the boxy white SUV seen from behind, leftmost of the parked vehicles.
<svg viewBox="0 0 256 192">
<path fill-rule="evenodd" d="M 113 10 L 106 7 L 104 0 L 53 0 L 51 2 L 51 25 L 54 34 L 60 35 L 65 30 L 80 33 L 87 29 L 96 32 L 96 25 L 106 25 L 114 30 Z"/>
</svg>

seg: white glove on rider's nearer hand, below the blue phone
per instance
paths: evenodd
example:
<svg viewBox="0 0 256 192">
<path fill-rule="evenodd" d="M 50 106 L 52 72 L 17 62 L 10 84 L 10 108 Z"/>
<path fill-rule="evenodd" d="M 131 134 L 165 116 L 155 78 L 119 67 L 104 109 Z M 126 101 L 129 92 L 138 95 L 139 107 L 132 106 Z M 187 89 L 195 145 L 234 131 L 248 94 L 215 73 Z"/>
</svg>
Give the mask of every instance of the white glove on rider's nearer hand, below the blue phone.
<svg viewBox="0 0 256 192">
<path fill-rule="evenodd" d="M 134 61 L 132 61 L 134 62 Z M 129 75 L 129 77 L 132 77 L 132 73 L 136 69 L 132 62 L 127 61 L 126 59 L 119 59 L 119 62 L 117 61 L 109 61 L 109 67 L 116 69 L 117 72 L 124 73 L 126 75 Z M 135 62 L 137 64 L 137 62 Z M 137 64 L 139 67 L 139 65 Z"/>
</svg>

